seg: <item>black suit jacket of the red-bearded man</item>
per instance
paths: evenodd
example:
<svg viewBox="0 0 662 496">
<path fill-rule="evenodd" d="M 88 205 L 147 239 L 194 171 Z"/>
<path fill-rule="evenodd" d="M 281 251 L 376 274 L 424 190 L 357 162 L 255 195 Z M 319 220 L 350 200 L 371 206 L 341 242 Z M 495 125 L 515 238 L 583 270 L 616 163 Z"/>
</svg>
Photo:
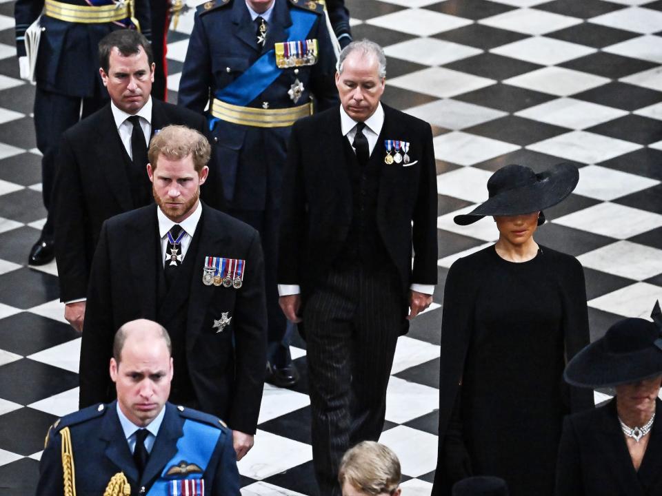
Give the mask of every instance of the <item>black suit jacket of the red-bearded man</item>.
<svg viewBox="0 0 662 496">
<path fill-rule="evenodd" d="M 199 409 L 217 415 L 244 433 L 254 433 L 266 363 L 264 263 L 259 234 L 252 227 L 202 205 L 190 249 L 180 270 L 190 265 L 190 281 L 178 275 L 181 291 L 159 301 L 162 270 L 157 206 L 110 218 L 103 224 L 90 273 L 80 364 L 81 407 L 110 399 L 108 363 L 119 327 L 137 318 L 167 322 L 185 311 L 186 365 Z M 194 247 L 197 245 L 197 250 Z M 245 260 L 241 289 L 205 286 L 205 256 Z M 159 267 L 157 267 L 159 265 Z M 214 320 L 229 312 L 222 332 Z M 163 323 L 161 322 L 161 323 Z M 167 329 L 167 327 L 166 327 Z M 177 367 L 174 364 L 174 373 Z"/>
</svg>

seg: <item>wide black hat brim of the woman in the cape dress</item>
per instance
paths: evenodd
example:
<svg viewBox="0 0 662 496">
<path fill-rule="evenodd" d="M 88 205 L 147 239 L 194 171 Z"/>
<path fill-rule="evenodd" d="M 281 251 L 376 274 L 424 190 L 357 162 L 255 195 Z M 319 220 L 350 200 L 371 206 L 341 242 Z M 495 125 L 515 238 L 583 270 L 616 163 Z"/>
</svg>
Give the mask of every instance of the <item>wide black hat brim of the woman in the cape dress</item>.
<svg viewBox="0 0 662 496">
<path fill-rule="evenodd" d="M 561 202 L 579 183 L 579 170 L 567 162 L 554 165 L 538 176 L 540 180 L 536 183 L 496 194 L 468 214 L 455 216 L 454 222 L 470 225 L 485 216 L 532 214 Z"/>
</svg>

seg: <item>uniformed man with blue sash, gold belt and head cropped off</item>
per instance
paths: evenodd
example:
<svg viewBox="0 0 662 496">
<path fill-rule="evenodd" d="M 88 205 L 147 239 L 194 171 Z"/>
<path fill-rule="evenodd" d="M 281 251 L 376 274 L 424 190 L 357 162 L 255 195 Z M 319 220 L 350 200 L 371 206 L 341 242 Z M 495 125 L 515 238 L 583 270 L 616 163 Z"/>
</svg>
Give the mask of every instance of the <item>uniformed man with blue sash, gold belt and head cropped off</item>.
<svg viewBox="0 0 662 496">
<path fill-rule="evenodd" d="M 228 213 L 258 229 L 271 375 L 294 384 L 276 278 L 283 166 L 294 121 L 338 105 L 324 7 L 312 0 L 210 0 L 195 14 L 179 104 L 208 117 Z"/>
</svg>

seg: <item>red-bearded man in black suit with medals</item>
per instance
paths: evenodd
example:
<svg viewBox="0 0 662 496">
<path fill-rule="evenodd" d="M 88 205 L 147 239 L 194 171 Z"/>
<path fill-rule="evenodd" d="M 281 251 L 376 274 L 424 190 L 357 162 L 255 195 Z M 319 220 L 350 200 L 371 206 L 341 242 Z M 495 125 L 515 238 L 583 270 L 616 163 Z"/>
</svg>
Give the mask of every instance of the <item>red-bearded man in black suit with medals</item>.
<svg viewBox="0 0 662 496">
<path fill-rule="evenodd" d="M 201 133 L 164 127 L 149 152 L 157 205 L 103 223 L 83 326 L 80 404 L 112 398 L 103 366 L 112 330 L 155 320 L 172 338 L 172 401 L 228 422 L 239 459 L 252 446 L 264 384 L 264 262 L 255 229 L 199 200 L 209 156 Z"/>
</svg>

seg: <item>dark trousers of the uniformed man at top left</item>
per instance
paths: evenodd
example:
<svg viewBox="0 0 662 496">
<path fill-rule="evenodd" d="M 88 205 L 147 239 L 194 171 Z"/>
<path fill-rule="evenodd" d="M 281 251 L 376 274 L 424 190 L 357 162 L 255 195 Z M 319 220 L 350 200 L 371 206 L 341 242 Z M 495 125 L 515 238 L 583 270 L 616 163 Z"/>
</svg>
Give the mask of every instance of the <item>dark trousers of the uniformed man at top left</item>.
<svg viewBox="0 0 662 496">
<path fill-rule="evenodd" d="M 69 96 L 42 90 L 37 85 L 34 95 L 34 131 L 37 135 L 37 148 L 41 158 L 41 196 L 43 206 L 48 210 L 48 218 L 42 229 L 42 236 L 51 239 L 54 236 L 53 216 L 50 209 L 55 178 L 55 156 L 62 133 L 69 127 L 97 112 L 108 101 L 107 94 L 90 98 Z M 66 194 L 66 192 L 63 192 Z"/>
</svg>

